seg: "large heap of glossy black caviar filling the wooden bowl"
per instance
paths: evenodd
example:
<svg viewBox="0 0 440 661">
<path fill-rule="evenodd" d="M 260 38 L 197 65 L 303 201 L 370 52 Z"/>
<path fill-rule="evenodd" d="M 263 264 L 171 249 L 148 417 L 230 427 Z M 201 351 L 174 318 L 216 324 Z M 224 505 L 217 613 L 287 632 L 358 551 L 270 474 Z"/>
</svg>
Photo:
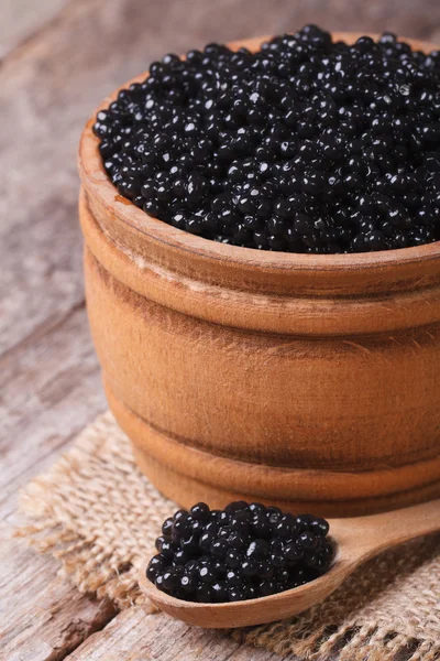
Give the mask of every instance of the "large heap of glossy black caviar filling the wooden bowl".
<svg viewBox="0 0 440 661">
<path fill-rule="evenodd" d="M 119 193 L 201 237 L 337 253 L 440 238 L 440 52 L 315 25 L 165 55 L 94 127 Z"/>
</svg>

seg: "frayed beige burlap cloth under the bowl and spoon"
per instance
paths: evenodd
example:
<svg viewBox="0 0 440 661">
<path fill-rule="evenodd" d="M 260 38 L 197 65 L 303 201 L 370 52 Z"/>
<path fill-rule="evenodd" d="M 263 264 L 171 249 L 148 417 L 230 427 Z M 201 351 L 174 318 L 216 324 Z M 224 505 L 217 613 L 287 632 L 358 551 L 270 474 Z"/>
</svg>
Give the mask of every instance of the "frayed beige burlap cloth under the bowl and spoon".
<svg viewBox="0 0 440 661">
<path fill-rule="evenodd" d="M 18 533 L 59 559 L 78 589 L 106 595 L 120 608 L 143 599 L 136 572 L 176 509 L 138 470 L 110 413 L 25 488 L 21 503 L 30 522 Z M 440 659 L 440 537 L 371 561 L 298 617 L 229 635 L 307 659 Z"/>
</svg>

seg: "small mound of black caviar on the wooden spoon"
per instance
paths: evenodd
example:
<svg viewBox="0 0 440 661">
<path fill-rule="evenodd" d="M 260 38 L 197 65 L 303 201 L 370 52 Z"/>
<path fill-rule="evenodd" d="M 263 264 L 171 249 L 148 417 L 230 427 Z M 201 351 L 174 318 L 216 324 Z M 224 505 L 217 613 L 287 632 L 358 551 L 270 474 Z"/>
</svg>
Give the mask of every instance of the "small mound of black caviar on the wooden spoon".
<svg viewBox="0 0 440 661">
<path fill-rule="evenodd" d="M 323 574 L 333 546 L 329 524 L 311 514 L 242 500 L 224 510 L 205 502 L 166 519 L 147 578 L 179 599 L 204 603 L 266 597 Z"/>
</svg>

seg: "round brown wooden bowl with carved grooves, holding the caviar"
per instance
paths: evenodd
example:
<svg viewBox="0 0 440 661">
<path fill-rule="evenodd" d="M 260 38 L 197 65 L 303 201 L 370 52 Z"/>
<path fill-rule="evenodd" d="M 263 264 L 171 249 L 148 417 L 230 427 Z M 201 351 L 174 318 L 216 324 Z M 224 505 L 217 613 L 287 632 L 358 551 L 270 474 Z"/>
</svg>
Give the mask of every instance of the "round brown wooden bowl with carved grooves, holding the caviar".
<svg viewBox="0 0 440 661">
<path fill-rule="evenodd" d="M 440 242 L 308 256 L 195 237 L 118 195 L 92 122 L 79 150 L 90 327 L 157 488 L 187 507 L 333 517 L 439 497 Z"/>
</svg>

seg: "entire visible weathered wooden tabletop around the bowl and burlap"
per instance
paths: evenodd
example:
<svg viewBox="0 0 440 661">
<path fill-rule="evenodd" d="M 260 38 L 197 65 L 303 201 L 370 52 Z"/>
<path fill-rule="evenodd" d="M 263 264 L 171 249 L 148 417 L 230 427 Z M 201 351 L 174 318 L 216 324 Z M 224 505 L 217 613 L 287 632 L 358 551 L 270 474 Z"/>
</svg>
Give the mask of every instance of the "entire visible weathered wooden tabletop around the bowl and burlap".
<svg viewBox="0 0 440 661">
<path fill-rule="evenodd" d="M 106 409 L 87 328 L 76 147 L 97 102 L 166 52 L 306 22 L 440 42 L 438 0 L 1 0 L 0 660 L 275 661 L 80 595 L 11 537 L 16 495 Z"/>
</svg>

